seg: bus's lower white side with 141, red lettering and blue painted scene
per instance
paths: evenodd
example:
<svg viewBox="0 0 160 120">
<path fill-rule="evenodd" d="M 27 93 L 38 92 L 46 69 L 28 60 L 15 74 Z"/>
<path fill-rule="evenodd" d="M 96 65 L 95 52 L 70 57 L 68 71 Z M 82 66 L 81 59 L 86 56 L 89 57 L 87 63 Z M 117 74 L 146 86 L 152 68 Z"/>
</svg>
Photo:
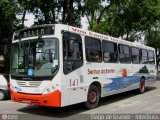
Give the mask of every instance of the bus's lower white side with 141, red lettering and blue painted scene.
<svg viewBox="0 0 160 120">
<path fill-rule="evenodd" d="M 65 96 L 62 101 L 69 99 L 64 106 L 86 101 L 88 88 L 94 82 L 101 84 L 101 97 L 104 97 L 137 89 L 141 77 L 148 83 L 154 82 L 155 76 L 154 65 L 85 62 L 79 69 L 63 75 L 66 86 L 62 87 Z"/>
</svg>

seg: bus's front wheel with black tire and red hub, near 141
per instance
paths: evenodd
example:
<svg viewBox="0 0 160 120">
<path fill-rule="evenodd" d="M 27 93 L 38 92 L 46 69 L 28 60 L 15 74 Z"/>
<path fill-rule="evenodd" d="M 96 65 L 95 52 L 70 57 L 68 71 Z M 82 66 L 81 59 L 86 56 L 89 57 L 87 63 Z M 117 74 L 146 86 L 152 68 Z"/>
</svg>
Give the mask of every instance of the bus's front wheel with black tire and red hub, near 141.
<svg viewBox="0 0 160 120">
<path fill-rule="evenodd" d="M 93 109 L 97 107 L 100 100 L 100 91 L 98 87 L 95 85 L 91 85 L 88 94 L 87 94 L 87 101 L 85 102 L 85 107 L 87 109 Z"/>
</svg>

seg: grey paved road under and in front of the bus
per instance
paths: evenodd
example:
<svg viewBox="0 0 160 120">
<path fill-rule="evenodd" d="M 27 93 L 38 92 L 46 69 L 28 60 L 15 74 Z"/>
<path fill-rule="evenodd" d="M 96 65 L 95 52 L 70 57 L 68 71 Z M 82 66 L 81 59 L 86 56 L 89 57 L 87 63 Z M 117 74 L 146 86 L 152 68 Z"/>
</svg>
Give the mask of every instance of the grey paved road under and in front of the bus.
<svg viewBox="0 0 160 120">
<path fill-rule="evenodd" d="M 86 110 L 83 104 L 52 108 L 0 101 L 0 120 L 85 120 L 109 119 L 112 114 L 160 114 L 160 81 L 146 88 L 144 94 L 136 90 L 101 99 L 97 108 Z M 7 116 L 7 117 L 6 117 Z M 160 116 L 159 118 L 160 119 Z"/>
</svg>

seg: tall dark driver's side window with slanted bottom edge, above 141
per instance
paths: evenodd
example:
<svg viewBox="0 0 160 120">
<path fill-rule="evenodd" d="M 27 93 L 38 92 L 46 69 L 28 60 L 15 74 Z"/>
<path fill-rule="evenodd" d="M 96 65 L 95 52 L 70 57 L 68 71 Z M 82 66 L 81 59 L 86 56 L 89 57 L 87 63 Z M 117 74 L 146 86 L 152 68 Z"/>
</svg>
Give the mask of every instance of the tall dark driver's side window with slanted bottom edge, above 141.
<svg viewBox="0 0 160 120">
<path fill-rule="evenodd" d="M 83 65 L 82 39 L 74 33 L 63 33 L 63 71 L 68 74 Z"/>
</svg>

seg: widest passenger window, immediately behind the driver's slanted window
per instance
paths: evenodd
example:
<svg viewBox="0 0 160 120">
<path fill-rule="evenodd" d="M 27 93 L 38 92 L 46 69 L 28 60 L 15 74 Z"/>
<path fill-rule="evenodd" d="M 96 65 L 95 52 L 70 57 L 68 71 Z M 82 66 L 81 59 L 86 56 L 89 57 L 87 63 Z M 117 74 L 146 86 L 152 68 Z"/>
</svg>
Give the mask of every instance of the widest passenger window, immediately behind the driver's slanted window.
<svg viewBox="0 0 160 120">
<path fill-rule="evenodd" d="M 96 38 L 85 37 L 86 60 L 88 62 L 101 62 L 101 41 Z"/>
</svg>

